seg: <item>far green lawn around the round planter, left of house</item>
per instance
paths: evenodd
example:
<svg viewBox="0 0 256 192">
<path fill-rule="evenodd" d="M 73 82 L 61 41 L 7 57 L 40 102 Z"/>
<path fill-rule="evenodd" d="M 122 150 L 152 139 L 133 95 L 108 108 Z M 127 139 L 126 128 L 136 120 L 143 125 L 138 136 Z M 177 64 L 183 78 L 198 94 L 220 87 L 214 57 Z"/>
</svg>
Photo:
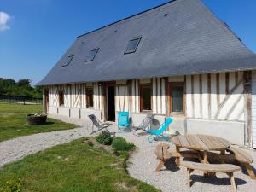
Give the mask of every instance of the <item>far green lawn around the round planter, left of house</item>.
<svg viewBox="0 0 256 192">
<path fill-rule="evenodd" d="M 0 102 L 0 142 L 39 132 L 60 131 L 77 127 L 77 125 L 67 124 L 55 119 L 47 119 L 46 125 L 26 124 L 27 113 L 42 111 L 42 105 L 20 105 Z"/>
</svg>

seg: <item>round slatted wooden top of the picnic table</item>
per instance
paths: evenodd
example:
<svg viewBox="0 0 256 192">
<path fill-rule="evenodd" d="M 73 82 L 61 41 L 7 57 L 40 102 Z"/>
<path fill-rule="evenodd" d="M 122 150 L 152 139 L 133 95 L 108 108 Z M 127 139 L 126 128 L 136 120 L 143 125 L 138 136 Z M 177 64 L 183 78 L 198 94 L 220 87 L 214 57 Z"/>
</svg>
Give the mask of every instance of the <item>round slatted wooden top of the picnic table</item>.
<svg viewBox="0 0 256 192">
<path fill-rule="evenodd" d="M 221 137 L 207 135 L 179 135 L 171 138 L 179 148 L 194 150 L 224 150 L 230 147 L 230 143 Z"/>
</svg>

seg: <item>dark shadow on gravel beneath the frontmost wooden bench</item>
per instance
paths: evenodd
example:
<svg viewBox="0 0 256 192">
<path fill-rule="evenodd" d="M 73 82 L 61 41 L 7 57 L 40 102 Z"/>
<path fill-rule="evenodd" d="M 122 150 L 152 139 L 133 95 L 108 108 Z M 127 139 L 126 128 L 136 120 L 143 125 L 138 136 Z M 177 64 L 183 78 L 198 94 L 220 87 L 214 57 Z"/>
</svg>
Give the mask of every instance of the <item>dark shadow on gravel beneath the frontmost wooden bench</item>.
<svg viewBox="0 0 256 192">
<path fill-rule="evenodd" d="M 203 182 L 207 184 L 214 184 L 214 185 L 230 185 L 230 178 L 218 178 L 216 176 L 199 176 L 199 175 L 191 175 L 191 186 L 195 182 Z M 242 180 L 241 178 L 235 178 L 236 180 L 236 185 L 243 185 L 246 184 L 247 182 Z"/>
</svg>

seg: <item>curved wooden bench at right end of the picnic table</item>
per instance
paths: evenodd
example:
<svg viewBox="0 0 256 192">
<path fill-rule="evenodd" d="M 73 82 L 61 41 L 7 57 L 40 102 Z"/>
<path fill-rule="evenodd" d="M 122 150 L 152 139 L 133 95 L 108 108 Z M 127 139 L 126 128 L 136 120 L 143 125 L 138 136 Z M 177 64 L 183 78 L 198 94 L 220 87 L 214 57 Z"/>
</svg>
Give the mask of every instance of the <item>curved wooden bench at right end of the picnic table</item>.
<svg viewBox="0 0 256 192">
<path fill-rule="evenodd" d="M 250 165 L 253 163 L 253 158 L 250 154 L 248 154 L 245 150 L 242 150 L 239 147 L 235 147 L 231 145 L 230 148 L 227 149 L 231 154 L 235 155 L 235 160 L 239 163 L 242 163 L 246 166 L 247 172 L 252 179 L 256 179 L 255 173 L 253 172 L 253 167 Z"/>
</svg>

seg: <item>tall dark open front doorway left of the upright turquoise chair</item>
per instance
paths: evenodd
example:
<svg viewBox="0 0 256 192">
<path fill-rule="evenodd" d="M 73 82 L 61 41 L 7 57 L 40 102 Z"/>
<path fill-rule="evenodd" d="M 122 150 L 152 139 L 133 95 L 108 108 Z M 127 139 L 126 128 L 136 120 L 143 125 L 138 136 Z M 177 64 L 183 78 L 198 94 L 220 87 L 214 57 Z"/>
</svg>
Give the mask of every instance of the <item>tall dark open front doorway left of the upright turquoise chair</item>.
<svg viewBox="0 0 256 192">
<path fill-rule="evenodd" d="M 114 106 L 114 86 L 108 85 L 107 87 L 107 120 L 114 121 L 115 120 L 115 106 Z"/>
</svg>

